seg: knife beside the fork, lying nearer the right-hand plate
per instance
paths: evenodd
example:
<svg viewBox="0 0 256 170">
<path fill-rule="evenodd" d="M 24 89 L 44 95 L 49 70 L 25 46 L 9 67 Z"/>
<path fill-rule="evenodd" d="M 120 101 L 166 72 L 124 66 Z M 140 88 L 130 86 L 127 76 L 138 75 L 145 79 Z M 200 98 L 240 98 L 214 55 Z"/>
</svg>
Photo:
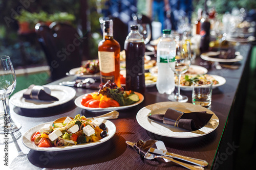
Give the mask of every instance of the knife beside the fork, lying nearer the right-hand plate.
<svg viewBox="0 0 256 170">
<path fill-rule="evenodd" d="M 164 155 L 164 156 L 169 156 L 172 158 L 176 158 L 176 159 L 180 159 L 189 163 L 193 163 L 196 165 L 200 165 L 200 166 L 207 166 L 208 162 L 206 162 L 205 160 L 202 159 L 196 159 L 196 158 L 191 158 L 191 157 L 187 157 L 187 156 L 182 156 L 182 155 L 178 155 L 178 154 L 174 154 L 174 153 L 169 153 L 166 151 L 162 151 L 162 150 L 158 150 L 155 148 L 150 148 L 150 150 L 148 150 L 148 152 L 150 153 L 154 153 L 154 154 L 160 154 L 160 155 Z"/>
</svg>

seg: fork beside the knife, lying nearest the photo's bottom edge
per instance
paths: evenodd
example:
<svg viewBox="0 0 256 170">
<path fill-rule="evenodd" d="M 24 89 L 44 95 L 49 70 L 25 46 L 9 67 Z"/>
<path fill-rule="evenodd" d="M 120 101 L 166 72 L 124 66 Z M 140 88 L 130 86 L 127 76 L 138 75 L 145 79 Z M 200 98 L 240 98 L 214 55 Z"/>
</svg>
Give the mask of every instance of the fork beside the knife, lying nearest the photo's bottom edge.
<svg viewBox="0 0 256 170">
<path fill-rule="evenodd" d="M 198 170 L 198 169 L 204 169 L 202 166 L 197 166 L 197 165 L 190 165 L 190 164 L 187 164 L 187 163 L 184 163 L 184 162 L 180 162 L 180 161 L 177 161 L 173 158 L 170 158 L 170 157 L 167 157 L 167 156 L 162 156 L 162 155 L 154 155 L 154 154 L 150 154 L 150 153 L 146 153 L 144 155 L 144 158 L 145 159 L 148 159 L 148 160 L 152 160 L 152 159 L 155 159 L 155 158 L 165 158 L 165 159 L 168 159 L 170 161 L 173 161 L 183 167 L 186 167 L 188 169 L 192 169 L 192 170 Z"/>
</svg>

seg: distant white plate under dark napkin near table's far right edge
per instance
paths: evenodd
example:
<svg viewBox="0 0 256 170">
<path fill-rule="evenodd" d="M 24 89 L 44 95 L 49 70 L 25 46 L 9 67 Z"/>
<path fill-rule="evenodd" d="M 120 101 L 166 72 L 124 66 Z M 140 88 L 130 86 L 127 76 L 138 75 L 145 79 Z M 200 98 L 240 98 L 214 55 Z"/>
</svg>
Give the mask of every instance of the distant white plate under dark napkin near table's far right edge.
<svg viewBox="0 0 256 170">
<path fill-rule="evenodd" d="M 243 56 L 240 55 L 239 52 L 236 52 L 235 55 L 236 55 L 236 58 L 233 58 L 233 59 L 222 59 L 222 58 L 214 58 L 214 57 L 210 57 L 210 56 L 217 56 L 218 53 L 217 52 L 208 52 L 208 53 L 203 53 L 201 54 L 201 58 L 203 60 L 206 60 L 206 61 L 212 61 L 212 62 L 225 62 L 225 63 L 228 63 L 228 62 L 238 62 L 238 61 L 241 61 L 243 60 Z"/>
</svg>

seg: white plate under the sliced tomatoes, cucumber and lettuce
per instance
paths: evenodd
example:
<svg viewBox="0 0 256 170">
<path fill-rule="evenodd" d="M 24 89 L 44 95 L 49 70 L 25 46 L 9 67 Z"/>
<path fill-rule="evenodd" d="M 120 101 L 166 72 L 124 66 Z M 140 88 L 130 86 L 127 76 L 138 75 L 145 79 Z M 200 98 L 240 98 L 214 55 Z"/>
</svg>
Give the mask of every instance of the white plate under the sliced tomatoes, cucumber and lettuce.
<svg viewBox="0 0 256 170">
<path fill-rule="evenodd" d="M 138 104 L 140 104 L 143 100 L 144 100 L 144 96 L 141 94 L 141 93 L 138 93 L 138 92 L 134 92 L 135 94 L 139 95 L 139 101 L 132 104 L 132 105 L 128 105 L 128 106 L 119 106 L 119 107 L 107 107 L 107 108 L 90 108 L 90 107 L 85 107 L 81 104 L 81 99 L 82 97 L 84 96 L 83 95 L 80 95 L 78 98 L 76 98 L 75 100 L 75 105 L 79 108 L 82 108 L 82 109 L 86 109 L 86 110 L 89 110 L 91 112 L 106 112 L 106 111 L 113 111 L 113 110 L 123 110 L 123 109 L 128 109 L 128 108 L 131 108 L 131 107 L 134 107 Z M 90 94 L 90 93 L 89 93 Z"/>
</svg>

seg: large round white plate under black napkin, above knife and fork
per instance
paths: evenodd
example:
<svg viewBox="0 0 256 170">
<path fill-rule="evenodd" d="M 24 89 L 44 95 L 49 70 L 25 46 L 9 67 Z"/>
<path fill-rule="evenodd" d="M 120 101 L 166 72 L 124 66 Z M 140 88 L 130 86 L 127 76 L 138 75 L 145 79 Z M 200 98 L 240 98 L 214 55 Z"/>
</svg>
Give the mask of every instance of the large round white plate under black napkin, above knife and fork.
<svg viewBox="0 0 256 170">
<path fill-rule="evenodd" d="M 168 108 L 179 110 L 182 112 L 195 112 L 195 111 L 206 111 L 212 115 L 209 122 L 201 129 L 196 131 L 187 131 L 181 128 L 164 125 L 161 123 L 154 122 L 147 118 L 150 114 L 164 114 Z M 136 115 L 137 122 L 145 130 L 152 132 L 157 135 L 174 137 L 174 138 L 191 138 L 206 135 L 214 131 L 219 125 L 219 118 L 216 114 L 200 105 L 193 105 L 191 103 L 179 103 L 179 102 L 161 102 L 153 105 L 148 105 L 139 110 Z"/>
</svg>

